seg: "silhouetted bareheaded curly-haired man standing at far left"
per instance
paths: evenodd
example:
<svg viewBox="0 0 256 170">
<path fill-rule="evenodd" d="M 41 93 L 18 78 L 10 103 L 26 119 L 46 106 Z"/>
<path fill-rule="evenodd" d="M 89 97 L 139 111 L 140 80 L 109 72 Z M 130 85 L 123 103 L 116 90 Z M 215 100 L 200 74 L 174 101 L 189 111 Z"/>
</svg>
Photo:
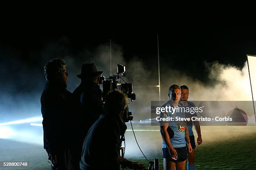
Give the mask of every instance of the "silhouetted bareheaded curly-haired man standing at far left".
<svg viewBox="0 0 256 170">
<path fill-rule="evenodd" d="M 47 81 L 41 95 L 44 149 L 54 165 L 54 170 L 66 170 L 71 92 L 66 89 L 68 74 L 65 61 L 53 59 L 46 62 L 44 74 Z"/>
</svg>

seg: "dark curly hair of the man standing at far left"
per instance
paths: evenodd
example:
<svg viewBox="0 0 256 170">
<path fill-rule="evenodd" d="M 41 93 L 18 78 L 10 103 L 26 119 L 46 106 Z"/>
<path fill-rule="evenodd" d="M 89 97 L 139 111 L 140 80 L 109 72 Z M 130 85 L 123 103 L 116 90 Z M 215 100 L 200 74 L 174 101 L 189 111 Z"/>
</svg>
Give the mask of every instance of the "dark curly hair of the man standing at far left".
<svg viewBox="0 0 256 170">
<path fill-rule="evenodd" d="M 44 75 L 46 81 L 49 82 L 56 78 L 56 75 L 61 72 L 63 66 L 67 66 L 65 60 L 54 58 L 50 61 L 47 61 L 44 65 Z"/>
</svg>

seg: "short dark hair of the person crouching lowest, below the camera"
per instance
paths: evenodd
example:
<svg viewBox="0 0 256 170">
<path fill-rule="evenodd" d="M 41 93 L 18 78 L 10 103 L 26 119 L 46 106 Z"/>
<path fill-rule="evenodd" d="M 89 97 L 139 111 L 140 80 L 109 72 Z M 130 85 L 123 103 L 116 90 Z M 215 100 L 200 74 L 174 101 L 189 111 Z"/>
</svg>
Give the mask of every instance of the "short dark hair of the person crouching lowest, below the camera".
<svg viewBox="0 0 256 170">
<path fill-rule="evenodd" d="M 125 110 L 127 105 L 127 95 L 121 90 L 111 90 L 108 92 L 105 101 L 105 114 L 115 115 Z"/>
</svg>

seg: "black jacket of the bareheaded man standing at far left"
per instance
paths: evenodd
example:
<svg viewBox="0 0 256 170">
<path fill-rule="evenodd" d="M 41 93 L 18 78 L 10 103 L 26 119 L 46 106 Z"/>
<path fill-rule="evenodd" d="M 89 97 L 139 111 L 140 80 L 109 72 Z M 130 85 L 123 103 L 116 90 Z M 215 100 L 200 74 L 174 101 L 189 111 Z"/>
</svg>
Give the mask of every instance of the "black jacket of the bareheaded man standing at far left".
<svg viewBox="0 0 256 170">
<path fill-rule="evenodd" d="M 41 95 L 44 149 L 51 155 L 67 149 L 69 145 L 72 93 L 67 91 L 66 87 L 67 85 L 47 83 Z"/>
</svg>

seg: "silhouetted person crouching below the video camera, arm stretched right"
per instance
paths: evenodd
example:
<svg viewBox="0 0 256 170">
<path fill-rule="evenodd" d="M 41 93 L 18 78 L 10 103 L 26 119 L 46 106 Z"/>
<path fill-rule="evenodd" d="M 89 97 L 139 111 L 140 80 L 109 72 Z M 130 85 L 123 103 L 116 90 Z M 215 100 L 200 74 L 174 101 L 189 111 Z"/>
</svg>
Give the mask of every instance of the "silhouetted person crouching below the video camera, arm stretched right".
<svg viewBox="0 0 256 170">
<path fill-rule="evenodd" d="M 119 170 L 120 164 L 131 169 L 143 170 L 141 163 L 133 163 L 120 157 L 120 135 L 126 125 L 122 116 L 127 107 L 127 97 L 120 90 L 106 96 L 104 114 L 92 125 L 84 139 L 81 170 Z"/>
</svg>

